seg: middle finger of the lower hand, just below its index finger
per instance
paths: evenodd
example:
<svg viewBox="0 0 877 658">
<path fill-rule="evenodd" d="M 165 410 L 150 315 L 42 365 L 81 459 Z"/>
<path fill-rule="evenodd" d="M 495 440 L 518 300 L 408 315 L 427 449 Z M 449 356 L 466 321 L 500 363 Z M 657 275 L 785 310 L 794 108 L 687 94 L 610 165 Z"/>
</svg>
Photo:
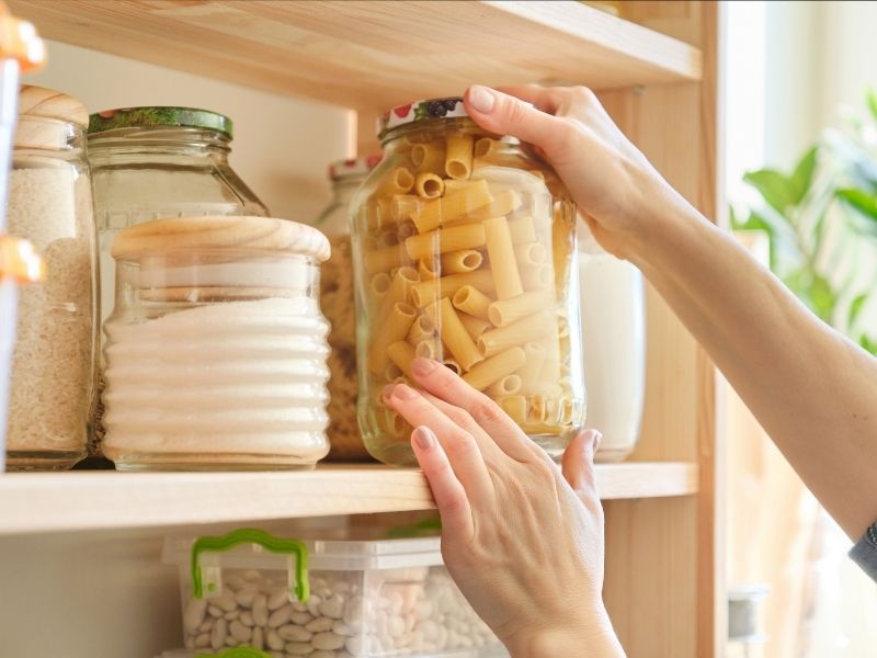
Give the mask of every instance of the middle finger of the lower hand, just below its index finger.
<svg viewBox="0 0 877 658">
<path fill-rule="evenodd" d="M 492 499 L 493 484 L 475 436 L 405 384 L 398 384 L 384 401 L 413 427 L 426 426 L 433 431 L 469 500 L 481 502 Z"/>
</svg>

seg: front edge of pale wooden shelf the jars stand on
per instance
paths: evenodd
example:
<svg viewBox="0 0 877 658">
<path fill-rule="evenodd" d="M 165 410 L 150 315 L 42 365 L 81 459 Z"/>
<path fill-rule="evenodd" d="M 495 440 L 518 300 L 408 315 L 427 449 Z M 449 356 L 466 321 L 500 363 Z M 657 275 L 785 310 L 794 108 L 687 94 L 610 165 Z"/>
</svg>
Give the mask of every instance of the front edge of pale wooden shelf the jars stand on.
<svg viewBox="0 0 877 658">
<path fill-rule="evenodd" d="M 597 466 L 604 499 L 686 496 L 694 464 Z M 21 473 L 0 475 L 0 535 L 259 521 L 433 508 L 420 472 L 327 465 L 294 473 Z"/>
</svg>

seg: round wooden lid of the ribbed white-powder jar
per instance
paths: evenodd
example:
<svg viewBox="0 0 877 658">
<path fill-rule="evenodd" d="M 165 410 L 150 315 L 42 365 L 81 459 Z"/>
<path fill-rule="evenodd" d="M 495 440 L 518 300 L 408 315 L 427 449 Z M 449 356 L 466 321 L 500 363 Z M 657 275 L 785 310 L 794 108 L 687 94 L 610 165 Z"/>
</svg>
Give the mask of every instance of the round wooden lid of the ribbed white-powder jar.
<svg viewBox="0 0 877 658">
<path fill-rule="evenodd" d="M 146 256 L 246 249 L 267 253 L 329 258 L 329 240 L 311 226 L 252 216 L 205 216 L 153 219 L 128 227 L 113 240 L 117 260 L 139 261 Z"/>
</svg>

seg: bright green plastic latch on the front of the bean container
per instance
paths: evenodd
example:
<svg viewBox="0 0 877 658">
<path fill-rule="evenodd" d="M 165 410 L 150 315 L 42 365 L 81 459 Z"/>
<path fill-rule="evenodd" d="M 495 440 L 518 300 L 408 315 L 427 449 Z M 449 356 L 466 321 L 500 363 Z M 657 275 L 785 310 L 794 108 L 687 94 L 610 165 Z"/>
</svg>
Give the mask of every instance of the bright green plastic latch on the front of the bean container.
<svg viewBox="0 0 877 658">
<path fill-rule="evenodd" d="M 198 537 L 192 545 L 192 586 L 196 599 L 204 598 L 204 574 L 201 568 L 201 556 L 204 553 L 223 553 L 240 544 L 257 544 L 276 553 L 277 555 L 288 555 L 292 559 L 295 557 L 295 582 L 289 583 L 289 591 L 292 591 L 296 599 L 306 602 L 310 598 L 310 582 L 308 581 L 308 549 L 303 542 L 298 540 L 282 540 L 269 534 L 262 530 L 254 530 L 252 527 L 241 527 L 240 530 L 232 530 L 227 535 L 220 537 Z M 289 575 L 293 575 L 293 566 L 289 566 Z M 213 592 L 216 590 L 215 582 L 208 582 L 207 590 Z M 252 656 L 263 656 L 264 654 L 252 654 Z M 224 658 L 227 658 L 223 654 Z M 235 655 L 235 658 L 248 658 Z"/>
</svg>

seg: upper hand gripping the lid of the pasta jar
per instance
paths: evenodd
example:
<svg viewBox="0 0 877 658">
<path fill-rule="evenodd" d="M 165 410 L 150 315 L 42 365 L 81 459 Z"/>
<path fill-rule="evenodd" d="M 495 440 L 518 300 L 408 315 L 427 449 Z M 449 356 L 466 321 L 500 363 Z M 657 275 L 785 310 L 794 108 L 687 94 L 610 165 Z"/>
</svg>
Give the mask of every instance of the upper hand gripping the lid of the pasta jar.
<svg viewBox="0 0 877 658">
<path fill-rule="evenodd" d="M 594 238 L 619 258 L 635 260 L 660 222 L 677 214 L 672 208 L 687 205 L 585 87 L 476 84 L 464 102 L 486 131 L 536 146 L 566 183 Z"/>
</svg>

